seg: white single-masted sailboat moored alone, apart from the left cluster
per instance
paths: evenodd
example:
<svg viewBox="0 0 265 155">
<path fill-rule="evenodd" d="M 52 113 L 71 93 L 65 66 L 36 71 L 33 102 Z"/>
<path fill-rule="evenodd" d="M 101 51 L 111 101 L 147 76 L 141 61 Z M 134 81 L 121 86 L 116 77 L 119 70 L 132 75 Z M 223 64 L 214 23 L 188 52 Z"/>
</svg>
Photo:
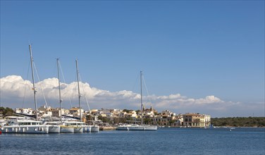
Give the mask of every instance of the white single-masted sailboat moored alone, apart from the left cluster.
<svg viewBox="0 0 265 155">
<path fill-rule="evenodd" d="M 119 125 L 116 130 L 157 130 L 156 125 L 143 125 L 142 124 L 142 71 L 140 71 L 140 85 L 141 85 L 141 125 Z"/>
</svg>

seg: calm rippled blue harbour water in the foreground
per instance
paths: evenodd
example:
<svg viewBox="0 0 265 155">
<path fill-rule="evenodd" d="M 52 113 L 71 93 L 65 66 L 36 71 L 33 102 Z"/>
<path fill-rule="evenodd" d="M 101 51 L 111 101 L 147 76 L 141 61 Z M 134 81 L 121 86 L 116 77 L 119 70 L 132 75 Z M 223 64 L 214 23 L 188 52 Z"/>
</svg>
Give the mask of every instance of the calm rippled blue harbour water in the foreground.
<svg viewBox="0 0 265 155">
<path fill-rule="evenodd" d="M 265 128 L 0 135 L 0 154 L 265 154 Z"/>
</svg>

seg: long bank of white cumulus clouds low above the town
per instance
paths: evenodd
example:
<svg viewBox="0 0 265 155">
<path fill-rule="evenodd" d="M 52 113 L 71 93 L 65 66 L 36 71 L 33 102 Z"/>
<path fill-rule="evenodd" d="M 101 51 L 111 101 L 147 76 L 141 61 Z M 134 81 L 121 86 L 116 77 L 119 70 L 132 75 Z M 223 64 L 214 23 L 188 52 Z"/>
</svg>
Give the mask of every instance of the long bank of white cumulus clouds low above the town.
<svg viewBox="0 0 265 155">
<path fill-rule="evenodd" d="M 1 104 L 11 108 L 34 107 L 32 82 L 23 80 L 18 75 L 2 77 L 1 80 Z M 37 106 L 44 105 L 44 97 L 48 106 L 58 107 L 58 79 L 48 78 L 35 84 L 37 89 Z M 82 95 L 82 108 L 87 109 L 87 101 L 92 109 L 140 109 L 140 94 L 128 90 L 119 92 L 110 92 L 108 90 L 90 87 L 87 82 L 80 82 L 80 93 Z M 69 84 L 61 82 L 61 98 L 63 107 L 78 106 L 78 84 L 71 82 Z M 87 99 L 87 101 L 86 101 Z M 25 104 L 23 104 L 25 102 Z M 176 113 L 209 113 L 216 116 L 225 116 L 235 111 L 245 113 L 251 109 L 261 113 L 264 109 L 263 104 L 254 104 L 249 108 L 249 104 L 235 103 L 232 101 L 223 101 L 214 95 L 204 98 L 193 99 L 180 94 L 170 94 L 168 96 L 149 95 L 143 97 L 144 105 L 149 108 L 152 106 L 159 110 L 169 109 Z M 230 113 L 230 114 L 229 114 Z"/>
</svg>

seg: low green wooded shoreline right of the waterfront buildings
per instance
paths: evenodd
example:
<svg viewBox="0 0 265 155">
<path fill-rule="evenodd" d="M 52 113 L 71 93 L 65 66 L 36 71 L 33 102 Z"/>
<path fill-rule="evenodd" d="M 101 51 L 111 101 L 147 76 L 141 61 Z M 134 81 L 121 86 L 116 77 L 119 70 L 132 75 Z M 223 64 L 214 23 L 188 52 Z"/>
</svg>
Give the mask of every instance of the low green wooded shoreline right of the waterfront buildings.
<svg viewBox="0 0 265 155">
<path fill-rule="evenodd" d="M 214 126 L 265 127 L 265 117 L 211 118 Z"/>
</svg>

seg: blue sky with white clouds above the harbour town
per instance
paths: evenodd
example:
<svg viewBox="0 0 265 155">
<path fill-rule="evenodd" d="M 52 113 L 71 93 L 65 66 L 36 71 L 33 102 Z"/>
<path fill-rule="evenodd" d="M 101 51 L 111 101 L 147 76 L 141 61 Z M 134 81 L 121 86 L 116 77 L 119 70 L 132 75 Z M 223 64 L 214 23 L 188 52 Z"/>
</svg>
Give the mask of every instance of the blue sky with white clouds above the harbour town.
<svg viewBox="0 0 265 155">
<path fill-rule="evenodd" d="M 1 1 L 1 106 L 265 116 L 264 1 Z M 35 74 L 37 74 L 35 73 Z M 148 91 L 146 91 L 146 89 Z M 44 97 L 43 97 L 44 96 Z M 86 99 L 87 98 L 87 101 Z"/>
</svg>

